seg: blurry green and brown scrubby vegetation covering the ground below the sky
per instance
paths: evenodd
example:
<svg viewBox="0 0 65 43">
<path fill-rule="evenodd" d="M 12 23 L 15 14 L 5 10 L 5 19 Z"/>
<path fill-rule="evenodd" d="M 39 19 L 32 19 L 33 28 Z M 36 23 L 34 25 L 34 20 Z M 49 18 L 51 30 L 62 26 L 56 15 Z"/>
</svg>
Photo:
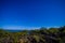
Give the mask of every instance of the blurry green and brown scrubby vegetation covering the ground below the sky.
<svg viewBox="0 0 65 43">
<path fill-rule="evenodd" d="M 0 29 L 0 43 L 65 43 L 65 26 L 9 32 Z"/>
</svg>

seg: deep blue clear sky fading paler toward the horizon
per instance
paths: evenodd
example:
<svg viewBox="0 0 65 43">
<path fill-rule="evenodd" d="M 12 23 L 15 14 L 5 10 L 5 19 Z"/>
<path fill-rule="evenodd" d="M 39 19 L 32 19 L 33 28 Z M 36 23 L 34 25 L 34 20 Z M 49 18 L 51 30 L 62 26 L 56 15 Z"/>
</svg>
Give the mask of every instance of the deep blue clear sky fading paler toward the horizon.
<svg viewBox="0 0 65 43">
<path fill-rule="evenodd" d="M 0 0 L 0 27 L 36 29 L 65 25 L 65 0 Z"/>
</svg>

